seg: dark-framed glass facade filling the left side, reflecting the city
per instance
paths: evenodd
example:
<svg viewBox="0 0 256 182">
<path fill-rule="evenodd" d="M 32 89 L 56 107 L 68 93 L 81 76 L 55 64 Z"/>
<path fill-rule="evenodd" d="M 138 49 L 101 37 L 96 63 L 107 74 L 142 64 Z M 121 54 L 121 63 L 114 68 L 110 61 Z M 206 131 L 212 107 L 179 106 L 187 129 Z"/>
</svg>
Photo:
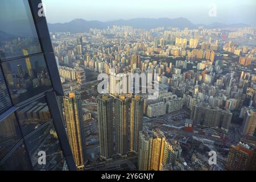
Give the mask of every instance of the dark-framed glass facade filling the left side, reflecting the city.
<svg viewBox="0 0 256 182">
<path fill-rule="evenodd" d="M 40 3 L 0 2 L 0 170 L 76 170 L 56 100 L 64 93 Z"/>
</svg>

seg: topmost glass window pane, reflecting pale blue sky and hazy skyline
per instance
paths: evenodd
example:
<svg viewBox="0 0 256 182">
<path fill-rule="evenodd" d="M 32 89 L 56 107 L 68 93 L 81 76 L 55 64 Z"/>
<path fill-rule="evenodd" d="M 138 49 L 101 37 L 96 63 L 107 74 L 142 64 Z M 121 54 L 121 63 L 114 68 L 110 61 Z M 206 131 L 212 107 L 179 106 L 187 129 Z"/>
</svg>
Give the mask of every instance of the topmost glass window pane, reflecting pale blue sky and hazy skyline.
<svg viewBox="0 0 256 182">
<path fill-rule="evenodd" d="M 0 59 L 42 52 L 27 0 L 0 1 Z"/>
</svg>

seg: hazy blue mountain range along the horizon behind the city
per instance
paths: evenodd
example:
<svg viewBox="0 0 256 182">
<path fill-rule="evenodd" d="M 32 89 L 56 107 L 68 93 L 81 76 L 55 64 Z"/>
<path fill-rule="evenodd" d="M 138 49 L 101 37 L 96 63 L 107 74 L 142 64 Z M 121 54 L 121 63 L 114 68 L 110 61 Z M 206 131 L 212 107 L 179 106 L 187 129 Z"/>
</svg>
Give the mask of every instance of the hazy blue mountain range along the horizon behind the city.
<svg viewBox="0 0 256 182">
<path fill-rule="evenodd" d="M 109 22 L 101 22 L 97 20 L 88 21 L 84 19 L 74 19 L 71 22 L 67 23 L 48 23 L 48 28 L 50 32 L 88 32 L 90 28 L 104 29 L 108 26 L 112 27 L 113 25 L 117 26 L 132 26 L 134 28 L 141 28 L 150 30 L 157 27 L 177 27 L 183 29 L 188 28 L 197 28 L 199 26 L 204 26 L 205 28 L 225 28 L 225 27 L 248 27 L 249 25 L 243 23 L 237 24 L 224 24 L 224 23 L 212 23 L 212 24 L 193 24 L 187 18 L 135 18 L 129 20 L 114 20 Z"/>
</svg>

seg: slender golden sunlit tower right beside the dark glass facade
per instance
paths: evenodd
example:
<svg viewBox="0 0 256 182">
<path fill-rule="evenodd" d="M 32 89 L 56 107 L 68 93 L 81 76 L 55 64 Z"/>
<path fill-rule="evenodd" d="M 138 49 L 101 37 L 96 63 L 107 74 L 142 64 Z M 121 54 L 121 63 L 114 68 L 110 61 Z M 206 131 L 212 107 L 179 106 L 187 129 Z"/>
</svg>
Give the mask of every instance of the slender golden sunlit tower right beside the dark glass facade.
<svg viewBox="0 0 256 182">
<path fill-rule="evenodd" d="M 68 96 L 64 97 L 63 101 L 69 144 L 76 166 L 81 169 L 84 167 L 86 160 L 81 97 L 77 93 L 69 93 Z"/>
</svg>

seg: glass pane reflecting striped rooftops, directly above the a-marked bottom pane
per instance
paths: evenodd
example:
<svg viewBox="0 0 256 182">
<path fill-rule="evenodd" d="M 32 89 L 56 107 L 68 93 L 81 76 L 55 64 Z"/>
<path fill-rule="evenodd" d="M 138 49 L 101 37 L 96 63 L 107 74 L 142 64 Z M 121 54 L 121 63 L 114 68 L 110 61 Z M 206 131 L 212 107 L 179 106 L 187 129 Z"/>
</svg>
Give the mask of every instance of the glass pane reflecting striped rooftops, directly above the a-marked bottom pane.
<svg viewBox="0 0 256 182">
<path fill-rule="evenodd" d="M 44 97 L 21 107 L 16 112 L 24 135 L 31 133 L 31 131 L 36 130 L 51 119 L 51 114 Z"/>
</svg>

